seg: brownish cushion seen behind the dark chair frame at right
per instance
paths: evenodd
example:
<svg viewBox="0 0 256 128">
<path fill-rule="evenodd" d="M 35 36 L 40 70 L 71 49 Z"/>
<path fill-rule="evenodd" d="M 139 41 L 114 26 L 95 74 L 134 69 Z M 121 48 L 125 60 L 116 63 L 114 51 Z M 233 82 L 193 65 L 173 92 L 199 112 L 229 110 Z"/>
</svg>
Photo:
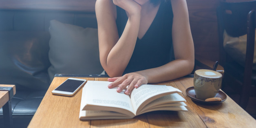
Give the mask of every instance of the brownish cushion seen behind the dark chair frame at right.
<svg viewBox="0 0 256 128">
<path fill-rule="evenodd" d="M 246 55 L 246 43 L 247 35 L 242 35 L 239 37 L 232 37 L 227 34 L 226 31 L 223 33 L 223 46 L 225 51 L 234 59 L 236 62 L 245 65 L 245 55 Z M 254 45 L 254 59 L 253 59 L 253 69 L 256 70 L 256 45 Z"/>
</svg>

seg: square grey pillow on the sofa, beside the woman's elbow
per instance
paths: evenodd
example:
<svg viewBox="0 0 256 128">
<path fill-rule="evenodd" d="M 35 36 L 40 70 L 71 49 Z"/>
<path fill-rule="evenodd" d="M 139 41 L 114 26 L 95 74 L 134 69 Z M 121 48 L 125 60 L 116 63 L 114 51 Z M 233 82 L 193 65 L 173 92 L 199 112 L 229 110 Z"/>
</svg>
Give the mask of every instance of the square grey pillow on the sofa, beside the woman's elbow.
<svg viewBox="0 0 256 128">
<path fill-rule="evenodd" d="M 97 29 L 50 21 L 49 77 L 55 74 L 100 74 Z"/>
</svg>

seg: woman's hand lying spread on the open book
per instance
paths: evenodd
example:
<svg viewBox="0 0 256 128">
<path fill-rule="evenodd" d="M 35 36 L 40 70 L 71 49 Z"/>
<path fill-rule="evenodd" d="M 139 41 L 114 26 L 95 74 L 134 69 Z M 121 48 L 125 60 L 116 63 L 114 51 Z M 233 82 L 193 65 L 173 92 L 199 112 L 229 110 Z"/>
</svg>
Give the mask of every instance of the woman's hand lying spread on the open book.
<svg viewBox="0 0 256 128">
<path fill-rule="evenodd" d="M 128 86 L 125 91 L 126 95 L 129 95 L 133 88 L 138 88 L 141 86 L 141 84 L 148 84 L 148 79 L 137 72 L 128 73 L 122 77 L 108 78 L 108 81 L 113 82 L 108 85 L 108 88 L 114 88 L 119 85 L 117 88 L 118 93 L 120 93 L 124 88 L 126 88 L 126 86 Z"/>
</svg>

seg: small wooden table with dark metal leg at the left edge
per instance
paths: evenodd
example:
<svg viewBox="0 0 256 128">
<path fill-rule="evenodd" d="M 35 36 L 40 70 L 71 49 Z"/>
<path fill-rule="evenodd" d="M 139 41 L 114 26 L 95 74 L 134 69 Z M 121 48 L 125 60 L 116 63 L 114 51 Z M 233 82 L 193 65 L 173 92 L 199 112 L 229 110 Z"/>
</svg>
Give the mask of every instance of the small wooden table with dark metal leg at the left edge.
<svg viewBox="0 0 256 128">
<path fill-rule="evenodd" d="M 0 87 L 9 87 L 8 89 L 11 89 L 13 95 L 16 94 L 16 88 L 15 85 L 5 85 L 0 84 Z M 11 97 L 9 96 L 8 90 L 6 88 L 0 88 L 0 108 L 3 108 L 3 116 L 4 116 L 4 126 L 7 128 L 10 128 L 13 126 L 13 120 L 12 120 L 12 110 L 11 110 Z M 6 90 L 3 91 L 2 89 Z"/>
</svg>

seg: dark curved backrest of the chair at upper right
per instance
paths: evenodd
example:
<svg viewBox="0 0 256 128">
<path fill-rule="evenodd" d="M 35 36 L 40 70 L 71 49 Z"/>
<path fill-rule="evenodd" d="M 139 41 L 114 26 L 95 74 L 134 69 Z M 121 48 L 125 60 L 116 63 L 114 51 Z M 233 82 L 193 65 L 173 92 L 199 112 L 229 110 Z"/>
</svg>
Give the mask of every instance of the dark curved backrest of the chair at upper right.
<svg viewBox="0 0 256 128">
<path fill-rule="evenodd" d="M 220 46 L 220 64 L 230 58 L 226 57 L 223 48 L 224 30 L 232 37 L 247 34 L 247 15 L 249 11 L 256 10 L 256 0 L 249 2 L 221 2 L 217 8 L 218 36 Z"/>
</svg>

